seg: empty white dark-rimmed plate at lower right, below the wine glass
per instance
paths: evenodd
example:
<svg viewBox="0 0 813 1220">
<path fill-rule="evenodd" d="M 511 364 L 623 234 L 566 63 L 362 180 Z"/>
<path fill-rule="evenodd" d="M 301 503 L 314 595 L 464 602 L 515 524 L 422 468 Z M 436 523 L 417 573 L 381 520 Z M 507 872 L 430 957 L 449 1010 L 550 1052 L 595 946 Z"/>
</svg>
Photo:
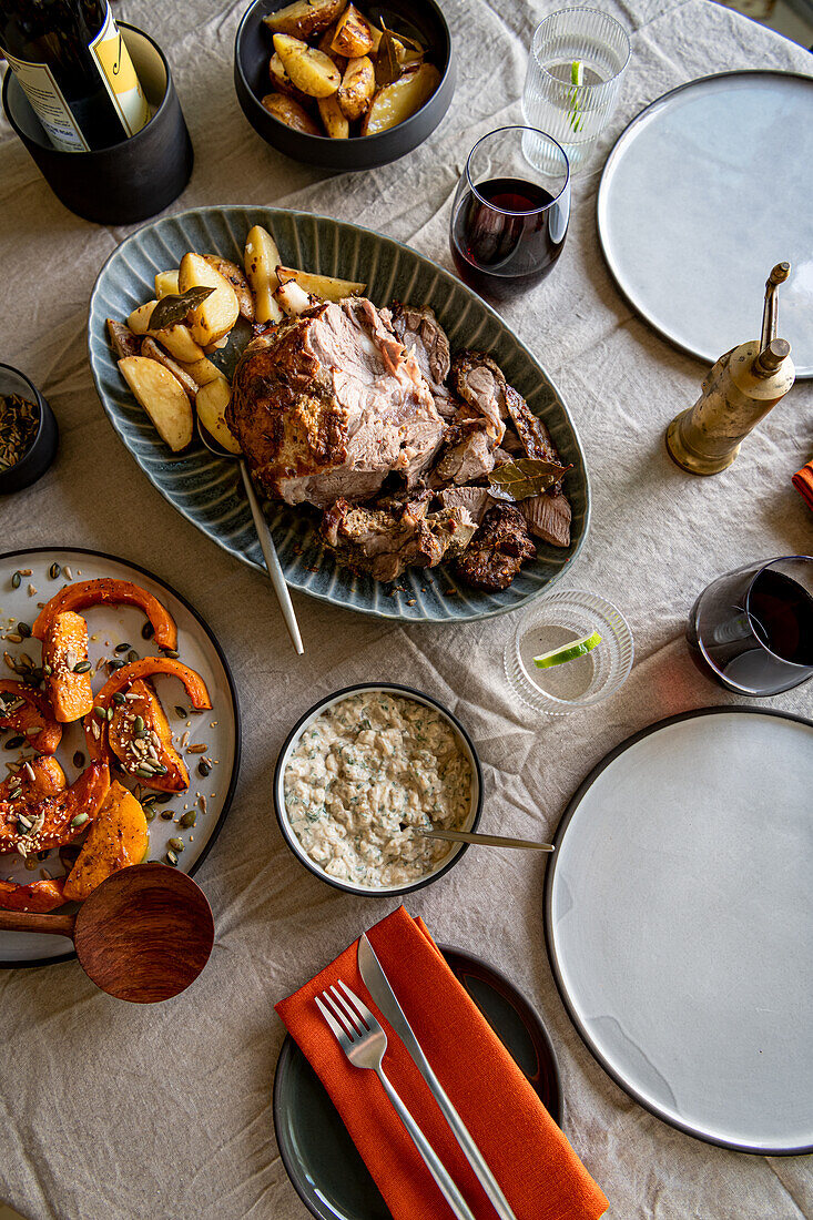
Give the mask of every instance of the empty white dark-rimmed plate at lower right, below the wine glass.
<svg viewBox="0 0 813 1220">
<path fill-rule="evenodd" d="M 747 708 L 660 721 L 570 802 L 548 954 L 602 1066 L 712 1143 L 813 1150 L 813 722 Z"/>
</svg>

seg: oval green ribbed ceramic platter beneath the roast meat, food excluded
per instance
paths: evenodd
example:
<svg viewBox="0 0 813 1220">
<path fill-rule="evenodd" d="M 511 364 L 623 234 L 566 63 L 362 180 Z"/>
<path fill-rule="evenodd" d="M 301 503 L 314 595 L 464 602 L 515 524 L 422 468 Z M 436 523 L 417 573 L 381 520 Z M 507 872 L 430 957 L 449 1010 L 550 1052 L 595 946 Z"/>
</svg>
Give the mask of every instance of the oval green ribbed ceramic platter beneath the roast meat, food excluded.
<svg viewBox="0 0 813 1220">
<path fill-rule="evenodd" d="M 502 593 L 472 589 L 447 567 L 408 569 L 393 584 L 353 576 L 322 547 L 308 512 L 269 504 L 273 540 L 291 588 L 348 610 L 408 622 L 485 619 L 515 610 L 549 588 L 579 554 L 590 523 L 585 458 L 559 392 L 499 315 L 459 279 L 409 246 L 358 224 L 273 207 L 199 207 L 145 224 L 116 248 L 90 298 L 90 368 L 110 422 L 150 482 L 223 550 L 265 571 L 237 466 L 212 456 L 198 440 L 184 453 L 170 451 L 122 381 L 105 328 L 107 317 L 125 320 L 150 300 L 155 273 L 177 267 L 188 250 L 219 254 L 242 265 L 253 224 L 273 233 L 287 266 L 364 281 L 366 294 L 380 306 L 393 300 L 430 305 L 452 350 L 490 353 L 544 420 L 563 461 L 573 465 L 564 484 L 573 505 L 570 547 L 537 540 L 536 560 Z M 214 359 L 227 361 L 229 353 Z"/>
</svg>

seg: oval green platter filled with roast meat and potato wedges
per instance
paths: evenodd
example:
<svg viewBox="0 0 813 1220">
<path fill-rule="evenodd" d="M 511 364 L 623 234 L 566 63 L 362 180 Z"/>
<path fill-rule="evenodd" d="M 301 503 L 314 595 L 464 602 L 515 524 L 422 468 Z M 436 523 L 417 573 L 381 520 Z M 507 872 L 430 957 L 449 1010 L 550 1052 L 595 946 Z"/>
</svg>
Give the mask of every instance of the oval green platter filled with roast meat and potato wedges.
<svg viewBox="0 0 813 1220">
<path fill-rule="evenodd" d="M 221 271 L 215 281 L 203 267 L 211 270 L 217 265 Z M 212 282 L 217 287 L 210 294 Z M 189 293 L 197 295 L 189 296 Z M 168 303 L 166 306 L 165 301 Z M 417 356 L 415 348 L 408 350 L 408 342 L 416 342 L 411 331 L 413 338 L 405 336 L 404 343 L 396 338 L 394 332 L 391 333 L 393 326 L 399 325 L 396 318 L 399 303 L 402 309 L 409 307 L 415 314 L 419 329 L 422 329 L 422 320 L 432 323 L 439 346 L 446 348 L 442 371 L 446 387 L 430 386 L 424 372 L 413 366 Z M 391 321 L 386 321 L 387 312 Z M 226 332 L 223 328 L 232 318 L 236 321 Z M 369 451 L 358 455 L 358 460 L 355 456 L 350 460 L 350 451 L 347 449 L 345 453 L 343 443 L 332 443 L 328 428 L 330 451 L 322 453 L 320 448 L 321 425 L 316 415 L 326 427 L 331 417 L 330 393 L 325 396 L 326 378 L 331 378 L 334 394 L 339 393 L 339 383 L 349 389 L 358 386 L 363 373 L 355 376 L 354 370 L 364 365 L 364 351 L 367 350 L 365 336 L 356 334 L 354 339 L 360 362 L 353 355 L 345 359 L 341 344 L 333 344 L 330 361 L 325 353 L 319 373 L 323 379 L 322 399 L 317 404 L 319 412 L 311 412 L 314 420 L 310 423 L 305 417 L 306 404 L 298 400 L 295 412 L 287 411 L 284 388 L 278 394 L 273 389 L 280 382 L 276 372 L 273 377 L 265 376 L 261 370 L 254 368 L 254 362 L 248 365 L 256 344 L 270 350 L 273 362 L 273 344 L 291 336 L 295 346 L 295 376 L 292 375 L 289 382 L 294 387 L 304 386 L 303 393 L 306 393 L 310 381 L 300 377 L 299 356 L 304 353 L 310 359 L 309 353 L 315 348 L 309 339 L 300 342 L 300 338 L 314 318 L 323 318 L 331 326 L 336 321 L 344 327 L 347 322 L 356 332 L 356 322 L 367 329 L 377 327 L 374 342 L 378 353 L 374 371 L 376 394 L 382 389 L 378 375 L 383 376 L 380 366 L 386 359 L 391 367 L 394 367 L 394 360 L 405 392 L 414 386 L 420 399 L 416 410 L 413 410 L 415 404 L 410 406 L 409 428 L 405 428 L 404 437 L 396 426 L 399 416 L 389 412 L 388 422 L 385 421 L 386 447 L 370 445 Z M 304 320 L 302 327 L 300 320 Z M 405 320 L 402 317 L 402 321 Z M 201 343 L 204 339 L 211 342 Z M 269 348 L 269 344 L 272 346 Z M 225 443 L 228 443 L 232 432 L 233 443 L 228 420 L 234 420 L 236 405 L 240 406 L 243 425 L 249 428 L 248 433 L 243 433 L 243 444 L 255 450 L 251 454 L 245 448 L 244 453 L 253 473 L 258 476 L 255 486 L 269 497 L 265 511 L 286 580 L 292 589 L 333 605 L 402 622 L 460 622 L 504 614 L 549 589 L 573 564 L 587 536 L 590 486 L 585 456 L 562 395 L 540 360 L 494 310 L 453 274 L 409 246 L 370 229 L 325 216 L 271 207 L 200 207 L 162 217 L 122 242 L 99 273 L 90 300 L 88 348 L 103 406 L 142 471 L 188 521 L 231 555 L 264 572 L 262 554 L 237 464 L 210 453 L 199 439 L 194 421 L 197 414 L 200 425 L 208 432 L 214 429 Z M 154 350 L 156 348 L 157 351 Z M 258 354 L 266 359 L 261 351 Z M 284 356 L 284 350 L 281 356 Z M 452 372 L 459 378 L 455 386 L 446 378 L 449 357 Z M 343 362 L 345 368 L 338 367 Z M 336 367 L 328 370 L 328 364 Z M 280 360 L 276 365 L 282 366 Z M 482 383 L 494 387 L 496 394 L 499 390 L 509 412 L 516 407 L 514 422 L 502 418 L 498 405 L 490 422 L 482 415 L 487 404 L 485 407 L 472 406 L 474 416 L 466 422 L 470 412 L 461 409 L 459 395 L 476 398 L 471 386 L 475 372 Z M 250 434 L 250 411 L 247 409 L 251 386 L 244 387 L 239 404 L 233 393 L 238 382 L 245 381 L 243 375 L 253 378 L 260 395 L 269 386 L 273 390 L 270 396 L 266 395 L 269 401 L 258 403 L 255 437 Z M 428 367 L 427 375 L 433 377 Z M 156 378 L 166 386 L 166 396 L 155 393 Z M 392 378 L 386 381 L 385 388 L 389 394 Z M 344 389 L 341 393 L 347 398 Z M 435 395 L 432 401 L 428 395 Z M 482 442 L 483 462 L 486 459 L 491 465 L 498 459 L 504 462 L 510 456 L 503 451 L 508 443 L 516 455 L 524 449 L 531 461 L 532 477 L 529 477 L 525 490 L 509 490 L 508 495 L 516 500 L 519 494 L 527 494 L 529 504 L 536 504 L 543 511 L 538 520 L 529 525 L 533 532 L 532 544 L 522 537 L 522 547 L 514 547 L 511 554 L 503 556 L 511 560 L 514 553 L 521 551 L 521 570 L 515 572 L 519 565 L 510 565 L 508 586 L 485 588 L 481 582 L 481 587 L 475 587 L 468 576 L 460 575 L 457 560 L 446 561 L 448 551 L 443 553 L 442 562 L 435 562 L 441 549 L 435 547 L 438 531 L 449 514 L 459 516 L 460 510 L 450 508 L 444 515 L 443 510 L 436 510 L 430 504 L 424 492 L 420 492 L 417 515 L 410 515 L 409 521 L 400 504 L 393 505 L 398 521 L 388 508 L 381 504 L 374 506 L 376 512 L 383 514 L 381 521 L 388 528 L 392 525 L 389 517 L 394 521 L 393 529 L 402 523 L 409 525 L 410 543 L 421 543 L 426 529 L 431 534 L 425 551 L 419 554 L 410 545 L 409 562 L 402 564 L 396 556 L 398 562 L 393 571 L 372 575 L 361 571 L 365 556 L 344 545 L 344 536 L 353 521 L 347 518 L 345 512 L 337 531 L 332 532 L 332 523 L 326 520 L 330 506 L 325 509 L 327 493 L 321 476 L 330 475 L 342 462 L 342 489 L 336 495 L 342 497 L 347 490 L 350 501 L 359 500 L 358 489 L 349 487 L 349 478 L 355 479 L 356 475 L 364 475 L 365 481 L 369 476 L 378 494 L 386 493 L 389 487 L 394 487 L 396 492 L 403 490 L 404 481 L 399 471 L 415 456 L 424 482 L 427 453 L 435 461 L 448 451 L 449 459 L 457 462 L 452 449 L 458 423 L 453 417 L 450 427 L 446 428 L 441 422 L 441 409 L 461 421 L 460 427 L 466 436 L 471 431 L 469 425 L 474 425 L 479 434 L 472 437 L 472 443 Z M 343 411 L 342 418 L 349 418 L 349 406 Z M 277 412 L 278 422 L 284 427 L 269 423 L 269 412 Z M 376 415 L 376 421 L 380 415 Z M 181 417 L 184 421 L 182 427 Z M 416 418 L 419 422 L 428 421 L 431 426 L 428 450 L 421 448 L 426 439 L 425 429 L 416 431 L 413 426 Z M 288 434 L 288 423 L 293 426 L 297 420 L 317 434 L 311 437 L 309 432 L 306 453 L 293 453 L 292 472 L 299 479 L 298 484 L 282 486 L 277 476 L 286 475 L 287 462 L 284 454 L 277 450 L 280 445 L 293 445 L 295 449 L 299 444 L 293 433 Z M 176 425 L 181 428 L 177 433 Z M 222 426 L 226 426 L 225 432 Z M 516 431 L 520 426 L 522 434 Z M 482 436 L 483 431 L 486 436 Z M 414 437 L 415 445 L 406 445 L 404 438 L 409 437 Z M 498 443 L 498 438 L 503 438 L 504 444 Z M 347 439 L 355 444 L 358 432 Z M 270 479 L 262 478 L 265 458 L 256 451 L 266 442 L 276 447 L 273 477 Z M 437 449 L 436 442 L 444 448 Z M 370 467 L 371 455 L 375 470 Z M 555 461 L 546 466 L 546 456 L 555 458 Z M 270 468 L 269 462 L 265 467 Z M 543 471 L 540 475 L 541 467 L 547 473 Z M 480 468 L 485 468 L 482 462 Z M 393 477 L 382 484 L 387 471 Z M 542 479 L 538 487 L 537 475 Z M 316 483 L 310 476 L 319 476 L 319 494 L 314 494 Z M 455 483 L 469 481 L 463 472 L 452 472 L 448 477 Z M 505 498 L 504 489 L 496 489 L 493 479 L 486 484 L 483 478 L 479 478 L 472 489 L 481 501 L 480 509 L 487 508 L 494 495 Z M 406 489 L 417 492 L 420 487 L 421 482 L 413 481 L 411 489 Z M 349 506 L 355 509 L 356 504 Z M 363 504 L 359 506 L 364 508 Z M 524 528 L 514 505 L 509 504 L 508 509 L 509 512 L 497 514 L 500 520 L 510 518 L 511 529 L 514 526 Z M 486 511 L 486 517 L 490 512 L 491 509 Z M 553 520 L 557 514 L 559 516 Z M 378 520 L 376 516 L 375 521 Z M 490 526 L 490 521 L 483 523 L 483 529 L 486 525 Z M 471 529 L 471 523 L 468 529 Z M 507 529 L 503 532 L 508 533 Z M 392 536 L 391 529 L 388 538 Z M 454 542 L 457 538 L 457 533 L 447 532 L 441 542 Z M 476 540 L 477 536 L 474 538 Z M 508 550 L 513 545 L 511 538 L 505 542 Z M 499 538 L 492 549 L 497 544 L 503 545 Z"/>
</svg>

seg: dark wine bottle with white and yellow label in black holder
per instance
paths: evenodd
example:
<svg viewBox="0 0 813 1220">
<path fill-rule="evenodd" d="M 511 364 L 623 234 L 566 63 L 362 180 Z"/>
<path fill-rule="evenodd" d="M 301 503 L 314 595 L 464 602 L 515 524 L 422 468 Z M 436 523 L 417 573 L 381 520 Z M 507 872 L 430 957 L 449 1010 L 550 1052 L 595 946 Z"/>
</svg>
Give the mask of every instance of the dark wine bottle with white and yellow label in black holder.
<svg viewBox="0 0 813 1220">
<path fill-rule="evenodd" d="M 107 0 L 0 0 L 0 50 L 57 149 L 104 149 L 150 117 Z"/>
</svg>

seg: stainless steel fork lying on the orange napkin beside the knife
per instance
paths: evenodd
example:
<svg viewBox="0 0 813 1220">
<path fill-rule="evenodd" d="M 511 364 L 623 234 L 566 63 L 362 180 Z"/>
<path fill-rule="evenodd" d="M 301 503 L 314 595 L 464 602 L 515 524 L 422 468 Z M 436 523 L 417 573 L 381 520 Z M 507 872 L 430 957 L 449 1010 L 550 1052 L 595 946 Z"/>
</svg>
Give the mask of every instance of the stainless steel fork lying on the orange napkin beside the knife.
<svg viewBox="0 0 813 1220">
<path fill-rule="evenodd" d="M 339 987 L 344 992 L 344 996 L 336 987 L 331 987 L 330 991 L 316 996 L 319 1011 L 336 1035 L 342 1050 L 353 1066 L 369 1068 L 376 1074 L 392 1103 L 392 1108 L 406 1127 L 413 1143 L 424 1158 L 426 1168 L 437 1182 L 443 1198 L 458 1220 L 475 1220 L 471 1208 L 460 1194 L 443 1161 L 385 1076 L 381 1060 L 387 1049 L 387 1035 L 367 1005 L 341 978 Z"/>
</svg>

